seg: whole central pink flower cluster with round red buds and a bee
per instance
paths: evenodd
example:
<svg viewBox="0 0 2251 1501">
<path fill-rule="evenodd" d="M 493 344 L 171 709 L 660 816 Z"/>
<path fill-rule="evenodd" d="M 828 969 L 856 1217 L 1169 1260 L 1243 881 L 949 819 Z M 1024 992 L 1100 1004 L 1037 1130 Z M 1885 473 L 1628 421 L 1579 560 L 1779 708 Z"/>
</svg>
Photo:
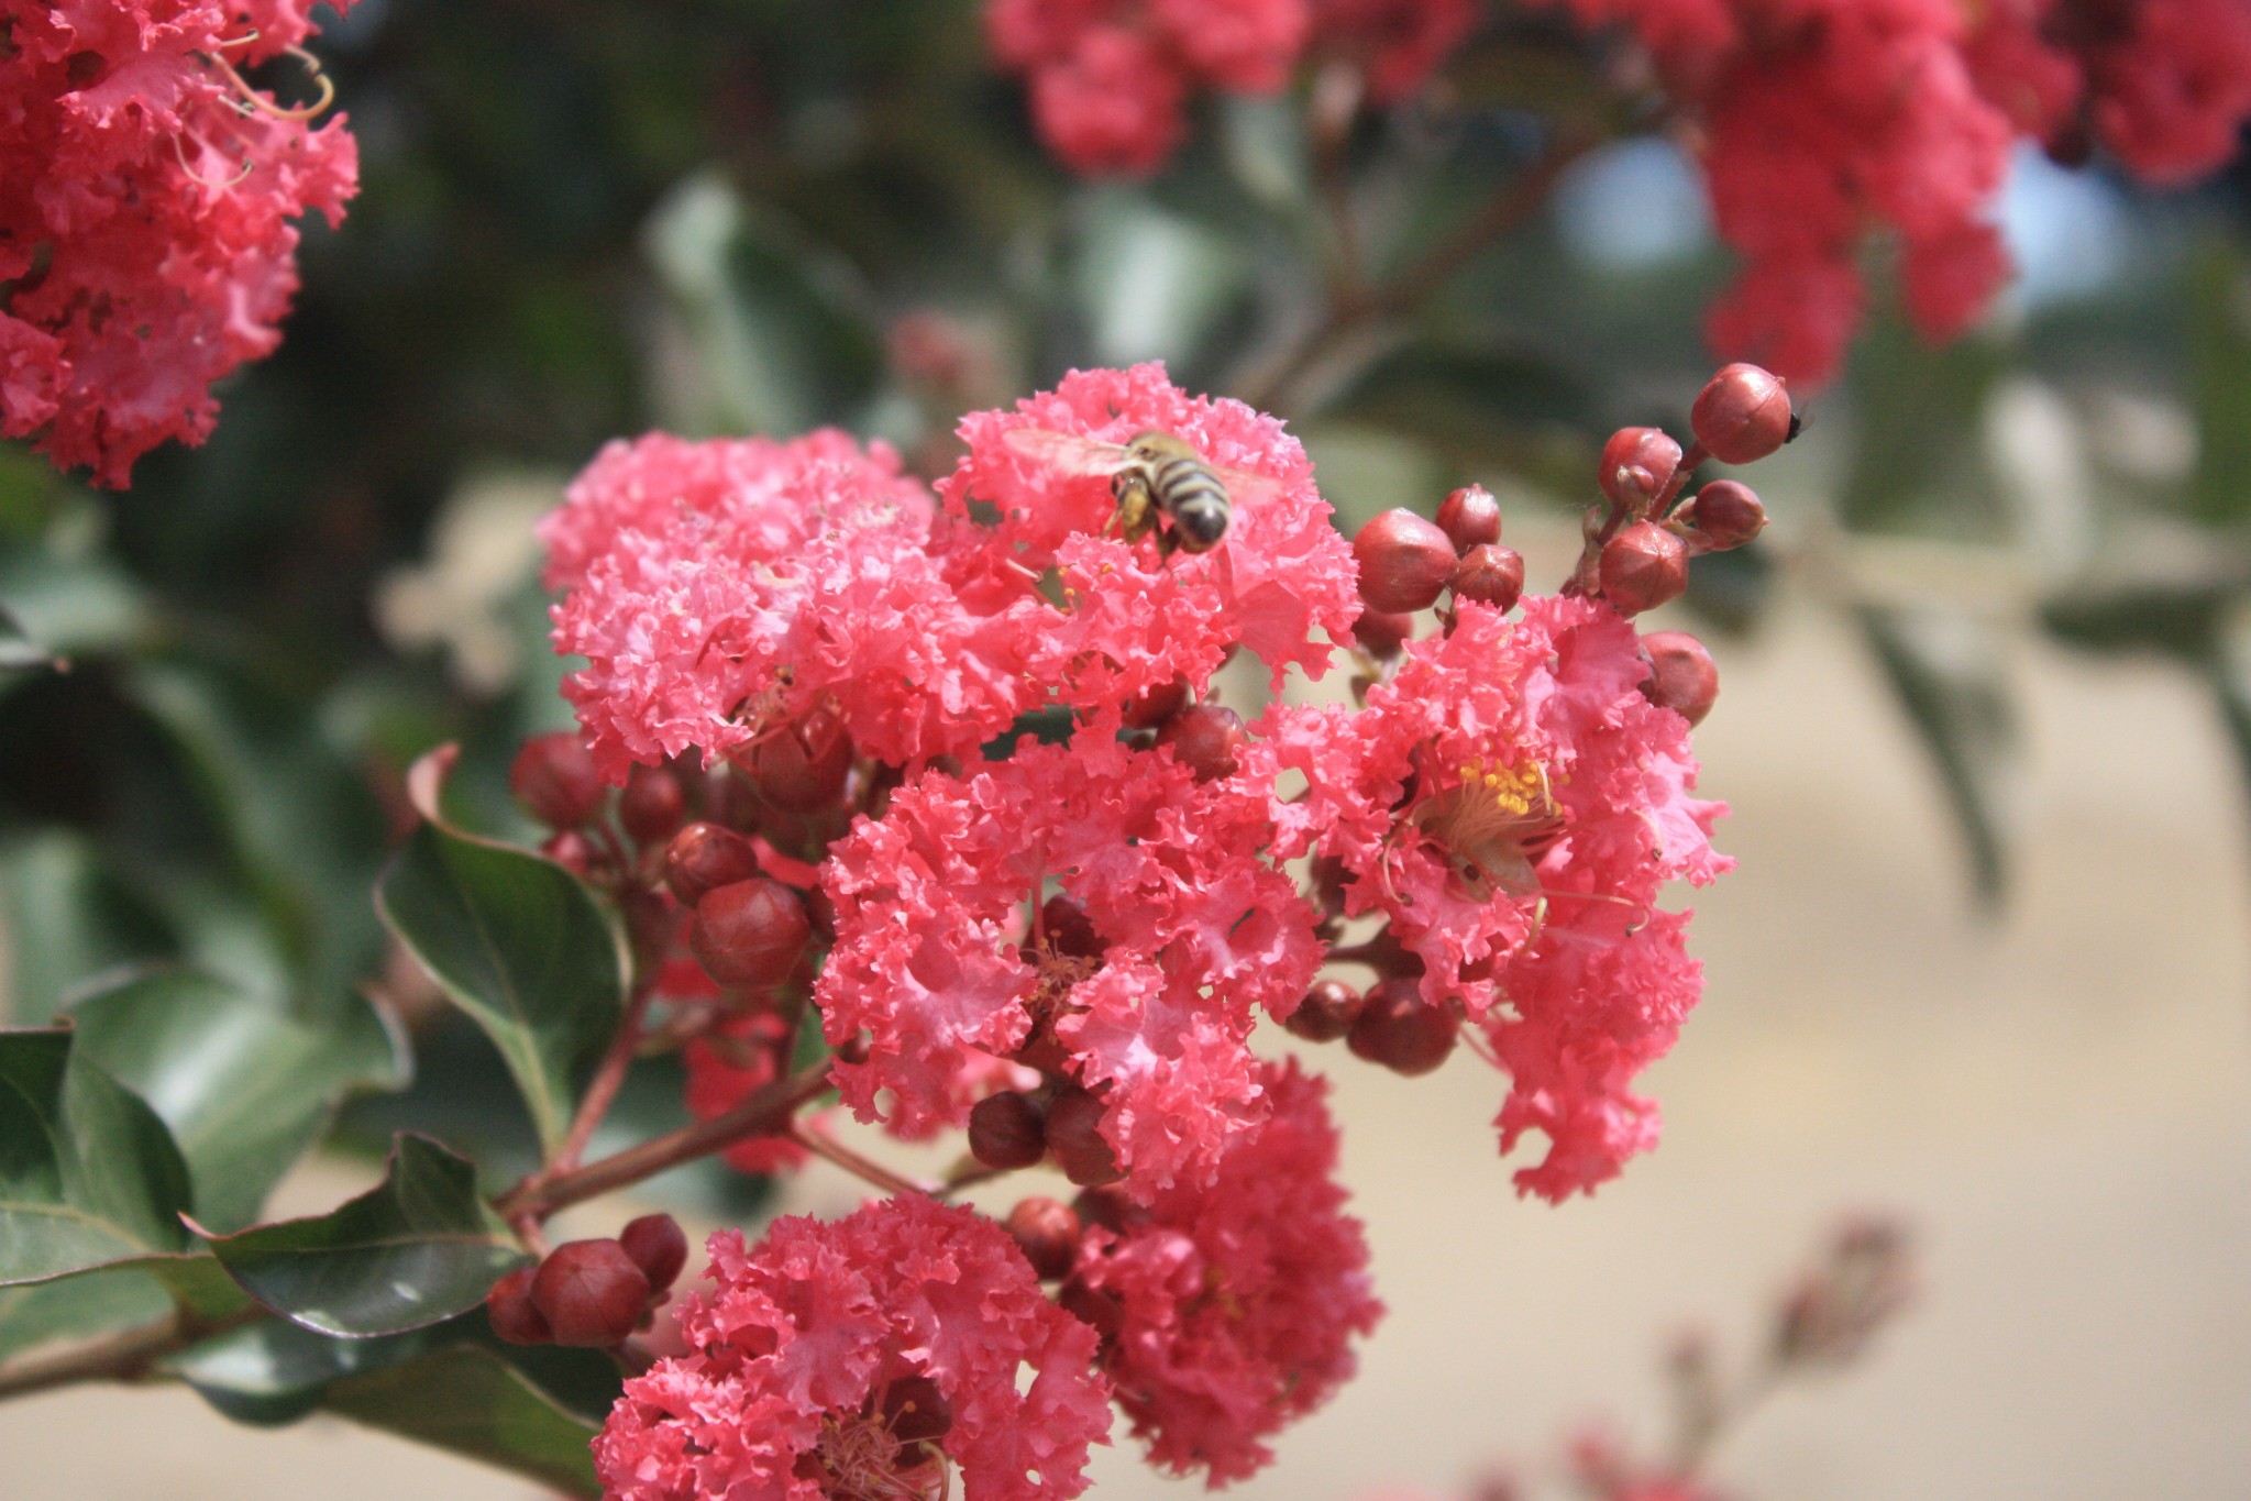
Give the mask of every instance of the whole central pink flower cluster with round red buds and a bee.
<svg viewBox="0 0 2251 1501">
<path fill-rule="evenodd" d="M 1346 545 L 1281 423 L 1159 367 L 970 414 L 934 488 L 835 432 L 599 455 L 545 527 L 585 740 L 527 745 L 515 790 L 615 896 L 628 1035 L 684 1049 L 729 1161 L 819 1152 L 898 1195 L 714 1242 L 689 1352 L 601 1440 L 612 1494 L 896 1501 L 954 1467 L 972 1501 L 1076 1494 L 1110 1402 L 1164 1467 L 1256 1472 L 1380 1314 L 1324 1085 L 1254 1053 L 1261 1022 L 1400 1073 L 1468 1024 L 1504 1150 L 1546 1136 L 1528 1193 L 1648 1148 L 1630 1082 L 1700 990 L 1661 889 L 1727 860 L 1691 794 L 1711 659 L 1630 617 L 1756 536 L 1745 486 L 1681 493 L 1787 441 L 1790 401 L 1733 367 L 1695 423 L 1695 457 L 1612 441 L 1587 558 L 1524 599 L 1492 495 Z M 1360 711 L 1292 702 L 1339 650 Z M 1249 725 L 1234 653 L 1274 693 Z M 1040 1166 L 1085 1193 L 1006 1233 L 936 1208 L 788 1123 L 831 1085 L 894 1136 L 966 1134 L 934 1193 Z M 615 1283 L 599 1319 L 545 1269 L 495 1307 L 610 1334 L 662 1285 L 628 1251 L 574 1251 Z"/>
</svg>

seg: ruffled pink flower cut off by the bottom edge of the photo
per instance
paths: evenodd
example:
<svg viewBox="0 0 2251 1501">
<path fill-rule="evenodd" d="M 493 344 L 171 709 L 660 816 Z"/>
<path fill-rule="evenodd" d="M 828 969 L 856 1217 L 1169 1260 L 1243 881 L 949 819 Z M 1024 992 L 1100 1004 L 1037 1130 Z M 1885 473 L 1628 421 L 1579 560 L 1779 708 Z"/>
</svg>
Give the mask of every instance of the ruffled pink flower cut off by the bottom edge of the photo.
<svg viewBox="0 0 2251 1501">
<path fill-rule="evenodd" d="M 1033 1501 L 1107 1442 L 1094 1330 L 1015 1242 L 918 1195 L 709 1242 L 684 1355 L 626 1382 L 594 1438 L 610 1501 Z M 1020 1377 L 1029 1382 L 1020 1391 Z"/>
</svg>

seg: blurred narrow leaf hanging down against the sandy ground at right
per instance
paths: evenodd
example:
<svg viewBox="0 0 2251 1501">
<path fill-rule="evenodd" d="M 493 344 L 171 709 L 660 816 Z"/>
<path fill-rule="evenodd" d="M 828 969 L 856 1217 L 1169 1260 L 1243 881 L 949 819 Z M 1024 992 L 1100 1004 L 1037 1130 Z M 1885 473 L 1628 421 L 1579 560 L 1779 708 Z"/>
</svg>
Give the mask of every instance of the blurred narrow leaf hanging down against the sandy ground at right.
<svg viewBox="0 0 2251 1501">
<path fill-rule="evenodd" d="M 2008 878 L 2006 790 L 2017 716 L 1990 623 L 1965 614 L 1862 610 L 1862 630 L 1922 736 L 1988 905 Z"/>
</svg>

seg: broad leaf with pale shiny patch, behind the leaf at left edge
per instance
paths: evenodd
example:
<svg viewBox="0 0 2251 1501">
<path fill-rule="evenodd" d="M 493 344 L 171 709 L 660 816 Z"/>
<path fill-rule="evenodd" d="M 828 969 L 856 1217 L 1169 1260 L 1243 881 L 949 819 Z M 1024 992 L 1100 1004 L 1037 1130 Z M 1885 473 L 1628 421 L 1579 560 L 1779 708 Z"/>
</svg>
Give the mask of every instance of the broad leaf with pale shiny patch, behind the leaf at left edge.
<svg viewBox="0 0 2251 1501">
<path fill-rule="evenodd" d="M 405 1082 L 405 1040 L 365 999 L 308 1022 L 194 970 L 155 970 L 72 1004 L 79 1046 L 149 1100 L 194 1179 L 196 1217 L 248 1224 L 351 1089 Z"/>
</svg>

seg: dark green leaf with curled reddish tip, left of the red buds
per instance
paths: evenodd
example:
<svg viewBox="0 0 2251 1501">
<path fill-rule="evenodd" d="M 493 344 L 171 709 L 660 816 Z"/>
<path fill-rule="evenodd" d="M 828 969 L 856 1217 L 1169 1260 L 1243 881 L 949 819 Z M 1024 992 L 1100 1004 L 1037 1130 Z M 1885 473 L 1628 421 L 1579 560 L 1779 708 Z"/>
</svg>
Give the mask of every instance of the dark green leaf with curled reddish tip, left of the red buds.
<svg viewBox="0 0 2251 1501">
<path fill-rule="evenodd" d="M 626 956 L 594 893 L 549 860 L 423 824 L 376 905 L 500 1049 L 540 1143 L 563 1141 L 626 995 Z"/>
</svg>

